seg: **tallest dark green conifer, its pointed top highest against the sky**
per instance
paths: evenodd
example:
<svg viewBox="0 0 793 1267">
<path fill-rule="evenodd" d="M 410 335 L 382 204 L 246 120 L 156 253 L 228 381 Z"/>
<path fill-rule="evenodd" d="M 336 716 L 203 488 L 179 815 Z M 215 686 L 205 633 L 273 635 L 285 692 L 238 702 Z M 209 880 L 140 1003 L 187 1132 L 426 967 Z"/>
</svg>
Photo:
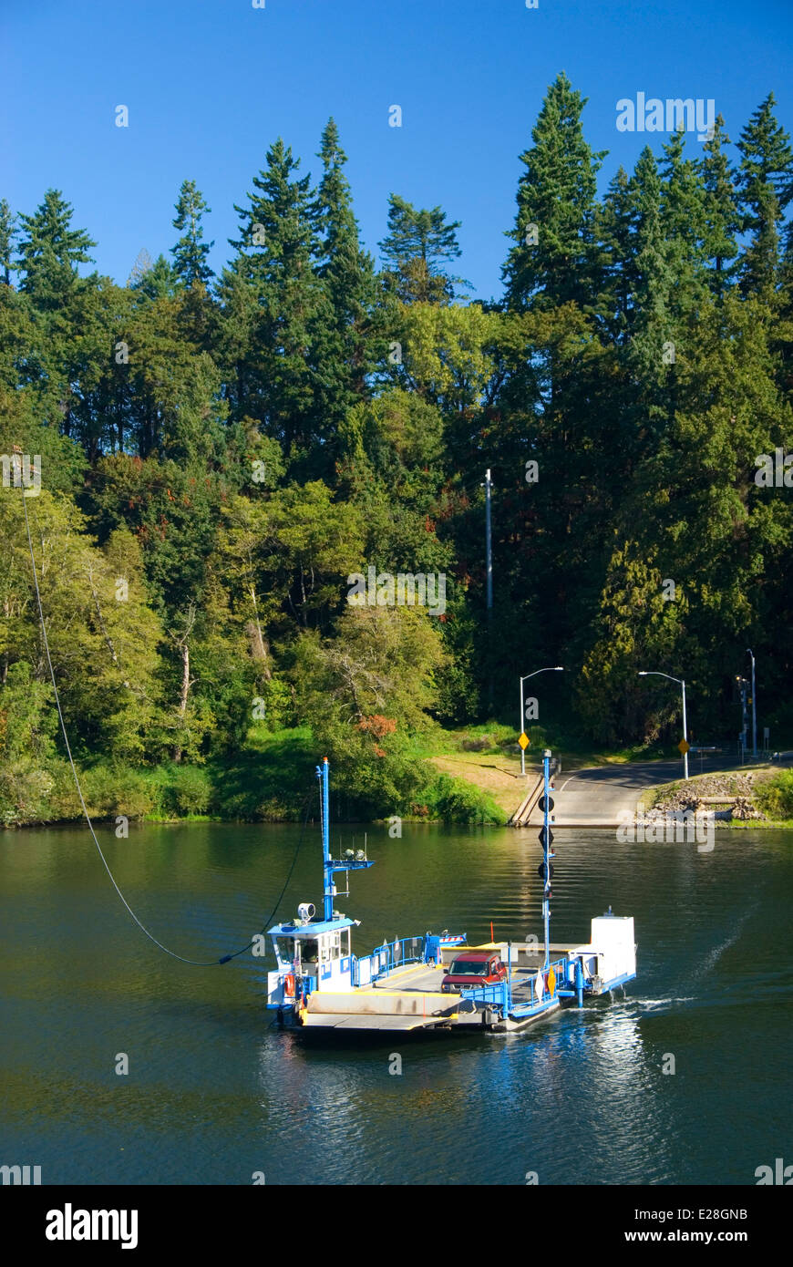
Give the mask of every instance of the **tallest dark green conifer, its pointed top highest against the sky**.
<svg viewBox="0 0 793 1267">
<path fill-rule="evenodd" d="M 497 538 L 500 583 L 507 593 L 521 595 L 523 626 L 531 612 L 530 623 L 537 630 L 533 650 L 565 656 L 565 663 L 579 655 L 575 642 L 597 599 L 609 487 L 623 460 L 613 435 L 613 407 L 604 395 L 613 372 L 607 369 L 612 353 L 604 334 L 618 300 L 608 294 L 609 252 L 597 236 L 603 155 L 584 139 L 584 104 L 566 75 L 557 76 L 532 129 L 533 144 L 521 156 L 524 171 L 508 234 L 514 246 L 503 276 L 505 305 L 513 321 L 522 318 L 516 334 L 518 347 L 523 342 L 523 364 L 511 365 L 503 375 L 498 414 L 488 428 L 488 465 L 494 466 L 497 484 L 507 484 L 503 540 Z M 493 462 L 492 446 L 500 449 L 511 435 L 517 441 L 512 454 Z M 516 447 L 538 464 L 531 498 L 523 473 L 516 473 L 517 480 L 513 474 Z M 557 568 L 560 552 L 566 560 L 564 575 Z M 513 664 L 522 659 L 518 651 L 516 646 Z"/>
</svg>

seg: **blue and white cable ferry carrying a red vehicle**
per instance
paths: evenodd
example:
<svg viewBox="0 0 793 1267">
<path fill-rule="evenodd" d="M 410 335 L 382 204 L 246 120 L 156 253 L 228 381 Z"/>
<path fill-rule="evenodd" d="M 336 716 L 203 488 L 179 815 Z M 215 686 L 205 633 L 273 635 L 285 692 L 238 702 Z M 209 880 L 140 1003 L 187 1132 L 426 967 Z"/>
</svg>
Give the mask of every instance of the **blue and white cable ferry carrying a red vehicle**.
<svg viewBox="0 0 793 1267">
<path fill-rule="evenodd" d="M 595 916 L 587 944 L 552 944 L 550 933 L 554 856 L 551 822 L 550 751 L 543 755 L 545 796 L 540 802 L 545 822 L 540 832 L 543 862 L 542 914 L 545 939 L 490 941 L 469 946 L 461 934 L 424 933 L 398 938 L 362 958 L 352 950 L 352 930 L 358 920 L 334 910 L 338 896 L 334 875 L 374 867 L 366 849 L 331 856 L 329 767 L 327 756 L 317 767 L 320 782 L 323 858 L 323 912 L 301 902 L 293 920 L 269 929 L 276 967 L 267 973 L 267 1007 L 280 1024 L 299 1031 L 410 1031 L 476 1030 L 498 1034 L 524 1029 L 570 1003 L 583 1006 L 589 997 L 607 993 L 636 977 L 633 917 Z M 345 893 L 348 892 L 348 884 Z M 473 952 L 495 952 L 493 955 Z M 466 959 L 466 954 L 470 955 Z M 455 986 L 455 960 L 498 965 L 500 979 Z M 451 969 L 451 973 L 450 973 Z"/>
</svg>

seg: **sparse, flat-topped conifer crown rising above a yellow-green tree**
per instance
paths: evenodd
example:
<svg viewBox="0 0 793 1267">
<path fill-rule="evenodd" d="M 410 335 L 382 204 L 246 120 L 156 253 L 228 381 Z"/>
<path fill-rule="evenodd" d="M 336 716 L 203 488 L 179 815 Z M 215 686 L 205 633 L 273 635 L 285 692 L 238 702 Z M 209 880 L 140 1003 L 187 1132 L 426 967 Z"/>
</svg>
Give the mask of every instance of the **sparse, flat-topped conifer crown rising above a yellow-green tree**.
<svg viewBox="0 0 793 1267">
<path fill-rule="evenodd" d="M 455 277 L 443 265 L 461 255 L 460 220 L 446 222 L 441 207 L 417 210 L 398 194 L 389 195 L 388 234 L 377 243 L 386 265 L 390 293 L 402 303 L 448 304 L 455 298 Z M 469 283 L 464 283 L 467 285 Z"/>
</svg>

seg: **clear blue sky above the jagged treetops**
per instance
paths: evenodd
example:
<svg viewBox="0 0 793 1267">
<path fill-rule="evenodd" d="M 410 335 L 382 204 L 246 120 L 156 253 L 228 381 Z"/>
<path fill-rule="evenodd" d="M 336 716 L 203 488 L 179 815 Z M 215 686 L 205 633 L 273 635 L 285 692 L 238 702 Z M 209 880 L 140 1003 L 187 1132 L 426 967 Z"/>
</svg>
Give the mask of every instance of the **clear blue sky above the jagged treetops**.
<svg viewBox="0 0 793 1267">
<path fill-rule="evenodd" d="M 174 245 L 190 177 L 219 269 L 267 146 L 284 136 L 315 174 L 332 114 L 366 246 L 385 233 L 389 193 L 440 204 L 462 220 L 460 272 L 489 298 L 518 156 L 560 70 L 589 98 L 589 143 L 609 151 L 604 188 L 666 139 L 617 132 L 617 100 L 640 91 L 713 98 L 736 139 L 773 90 L 793 131 L 792 48 L 792 0 L 0 0 L 0 196 L 30 212 L 61 189 L 99 270 L 123 283 L 142 247 Z"/>
</svg>

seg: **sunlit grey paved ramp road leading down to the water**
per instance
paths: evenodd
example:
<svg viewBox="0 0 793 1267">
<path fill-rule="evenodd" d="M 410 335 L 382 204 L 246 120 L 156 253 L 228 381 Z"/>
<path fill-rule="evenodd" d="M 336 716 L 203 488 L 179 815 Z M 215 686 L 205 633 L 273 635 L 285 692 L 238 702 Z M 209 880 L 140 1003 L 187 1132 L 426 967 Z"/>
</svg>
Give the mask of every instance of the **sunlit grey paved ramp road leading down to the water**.
<svg viewBox="0 0 793 1267">
<path fill-rule="evenodd" d="M 787 754 L 785 754 L 787 755 Z M 787 764 L 787 763 L 785 763 Z M 741 769 L 740 763 L 720 756 L 689 759 L 689 774 L 712 774 Z M 604 765 L 562 773 L 555 778 L 554 825 L 557 827 L 616 827 L 636 810 L 642 788 L 671 783 L 683 778 L 683 761 L 636 761 L 627 765 Z M 532 825 L 542 815 L 535 811 Z"/>
</svg>

